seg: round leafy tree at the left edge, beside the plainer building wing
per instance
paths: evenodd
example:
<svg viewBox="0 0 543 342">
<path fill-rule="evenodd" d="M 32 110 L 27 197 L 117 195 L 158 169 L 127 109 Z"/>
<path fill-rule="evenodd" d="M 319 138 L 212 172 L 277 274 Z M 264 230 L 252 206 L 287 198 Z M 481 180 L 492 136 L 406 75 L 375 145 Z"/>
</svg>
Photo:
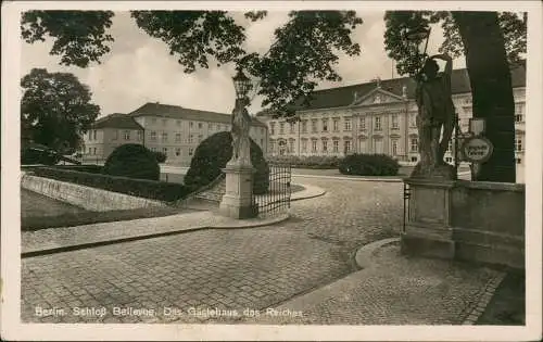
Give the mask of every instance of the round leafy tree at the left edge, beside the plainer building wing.
<svg viewBox="0 0 543 342">
<path fill-rule="evenodd" d="M 77 149 L 100 107 L 76 76 L 34 68 L 21 79 L 22 137 L 56 151 Z"/>
</svg>

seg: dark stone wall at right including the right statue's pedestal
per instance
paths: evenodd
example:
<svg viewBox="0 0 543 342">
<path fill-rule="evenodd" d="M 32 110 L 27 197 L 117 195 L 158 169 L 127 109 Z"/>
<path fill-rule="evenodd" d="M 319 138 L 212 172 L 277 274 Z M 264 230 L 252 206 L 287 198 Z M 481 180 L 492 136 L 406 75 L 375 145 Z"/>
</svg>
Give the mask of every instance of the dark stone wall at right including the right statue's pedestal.
<svg viewBox="0 0 543 342">
<path fill-rule="evenodd" d="M 525 186 L 405 179 L 407 254 L 525 268 Z"/>
</svg>

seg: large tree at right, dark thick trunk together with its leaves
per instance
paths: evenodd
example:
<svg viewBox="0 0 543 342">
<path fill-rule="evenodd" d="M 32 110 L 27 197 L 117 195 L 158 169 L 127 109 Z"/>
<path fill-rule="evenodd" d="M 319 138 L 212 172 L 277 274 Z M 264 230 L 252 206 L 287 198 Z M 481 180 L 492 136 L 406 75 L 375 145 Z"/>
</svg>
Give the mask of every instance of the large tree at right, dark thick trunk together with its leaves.
<svg viewBox="0 0 543 342">
<path fill-rule="evenodd" d="M 466 55 L 473 117 L 487 119 L 487 137 L 494 144 L 479 180 L 515 182 L 515 103 L 509 67 L 526 52 L 526 13 L 393 11 L 384 15 L 386 49 L 400 74 L 414 75 L 422 56 L 403 38 L 405 29 L 441 23 L 440 52 Z"/>
</svg>

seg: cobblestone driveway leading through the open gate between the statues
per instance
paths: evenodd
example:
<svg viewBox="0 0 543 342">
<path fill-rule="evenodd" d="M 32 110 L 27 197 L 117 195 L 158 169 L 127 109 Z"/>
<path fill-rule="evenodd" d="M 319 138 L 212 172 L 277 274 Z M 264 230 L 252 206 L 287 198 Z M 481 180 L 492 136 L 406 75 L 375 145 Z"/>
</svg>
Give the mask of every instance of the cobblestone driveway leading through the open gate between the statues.
<svg viewBox="0 0 543 342">
<path fill-rule="evenodd" d="M 264 309 L 354 271 L 357 246 L 400 229 L 401 183 L 303 181 L 328 193 L 293 202 L 293 218 L 278 226 L 24 258 L 23 321 L 193 322 L 215 321 L 206 308 Z"/>
</svg>

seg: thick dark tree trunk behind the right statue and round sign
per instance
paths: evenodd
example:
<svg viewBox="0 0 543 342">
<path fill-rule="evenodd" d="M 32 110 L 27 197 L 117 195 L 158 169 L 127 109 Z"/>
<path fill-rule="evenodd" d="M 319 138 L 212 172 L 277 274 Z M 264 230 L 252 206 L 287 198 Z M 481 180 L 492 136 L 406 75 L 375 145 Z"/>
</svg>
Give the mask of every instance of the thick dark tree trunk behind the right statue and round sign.
<svg viewBox="0 0 543 342">
<path fill-rule="evenodd" d="M 485 118 L 494 145 L 478 180 L 515 182 L 515 101 L 496 12 L 453 12 L 466 52 L 473 117 Z"/>
</svg>

